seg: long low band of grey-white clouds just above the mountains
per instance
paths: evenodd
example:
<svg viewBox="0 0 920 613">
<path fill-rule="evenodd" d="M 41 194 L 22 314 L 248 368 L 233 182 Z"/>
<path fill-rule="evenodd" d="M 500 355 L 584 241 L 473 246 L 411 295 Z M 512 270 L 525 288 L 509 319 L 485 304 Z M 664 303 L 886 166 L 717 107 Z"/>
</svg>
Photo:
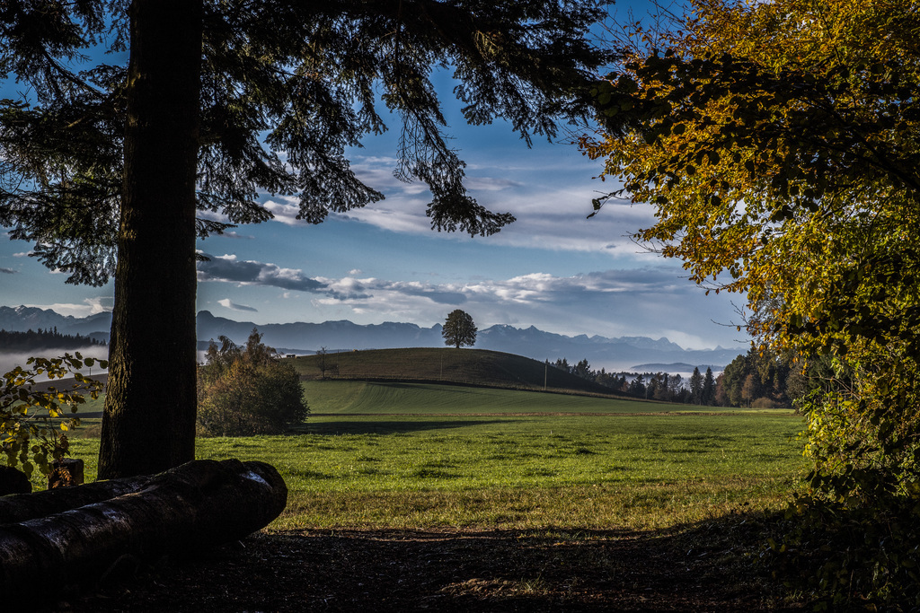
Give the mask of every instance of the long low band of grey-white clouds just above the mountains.
<svg viewBox="0 0 920 613">
<path fill-rule="evenodd" d="M 451 283 L 358 275 L 307 278 L 299 269 L 241 261 L 234 255 L 212 256 L 199 267 L 204 281 L 305 292 L 315 321 L 342 318 L 344 314 L 357 323 L 410 321 L 431 325 L 443 322 L 454 308 L 462 308 L 483 326 L 536 325 L 565 335 L 667 335 L 691 348 L 725 346 L 736 336 L 726 330 L 714 338 L 711 332 L 713 322 L 728 325 L 736 319 L 730 299 L 705 296 L 681 276 L 679 268 L 670 266 L 570 276 L 535 272 Z M 290 296 L 285 293 L 283 297 Z M 218 302 L 237 311 L 257 311 L 230 298 Z M 703 314 L 695 318 L 688 312 Z"/>
</svg>

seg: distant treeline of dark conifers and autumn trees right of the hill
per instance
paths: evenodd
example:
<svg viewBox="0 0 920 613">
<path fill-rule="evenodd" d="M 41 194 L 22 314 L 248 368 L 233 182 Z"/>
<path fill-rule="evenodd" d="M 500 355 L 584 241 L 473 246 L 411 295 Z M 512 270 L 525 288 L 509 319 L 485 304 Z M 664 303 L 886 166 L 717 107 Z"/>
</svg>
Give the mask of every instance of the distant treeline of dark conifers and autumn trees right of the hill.
<svg viewBox="0 0 920 613">
<path fill-rule="evenodd" d="M 811 360 L 809 370 L 803 371 L 792 359 L 754 349 L 733 359 L 718 377 L 709 368 L 706 372 L 696 368 L 686 379 L 667 372 L 613 373 L 592 370 L 587 359 L 569 366 L 567 359 L 560 358 L 552 366 L 637 398 L 763 409 L 791 407 L 794 399 L 820 386 L 822 368 L 829 369 L 823 360 Z"/>
</svg>

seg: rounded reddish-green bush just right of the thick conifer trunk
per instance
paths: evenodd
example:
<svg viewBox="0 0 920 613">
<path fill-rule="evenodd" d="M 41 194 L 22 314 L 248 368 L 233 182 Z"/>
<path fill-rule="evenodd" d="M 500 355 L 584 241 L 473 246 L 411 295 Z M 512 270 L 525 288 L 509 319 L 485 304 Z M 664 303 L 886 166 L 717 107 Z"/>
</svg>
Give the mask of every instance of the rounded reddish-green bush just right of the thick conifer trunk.
<svg viewBox="0 0 920 613">
<path fill-rule="evenodd" d="M 226 336 L 198 370 L 198 430 L 203 436 L 281 434 L 309 414 L 300 377 L 255 329 L 245 348 Z"/>
</svg>

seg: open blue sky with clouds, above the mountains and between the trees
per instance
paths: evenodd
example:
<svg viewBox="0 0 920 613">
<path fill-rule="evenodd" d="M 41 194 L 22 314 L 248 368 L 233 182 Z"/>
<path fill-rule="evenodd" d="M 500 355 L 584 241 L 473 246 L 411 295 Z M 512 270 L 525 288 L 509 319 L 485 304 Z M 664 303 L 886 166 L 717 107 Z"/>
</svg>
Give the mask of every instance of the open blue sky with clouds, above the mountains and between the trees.
<svg viewBox="0 0 920 613">
<path fill-rule="evenodd" d="M 564 335 L 667 336 L 687 348 L 745 349 L 744 335 L 726 325 L 738 320 L 731 301 L 740 297 L 704 295 L 680 262 L 630 240 L 653 223 L 649 206 L 611 204 L 586 219 L 591 199 L 617 187 L 593 178 L 599 162 L 565 142 L 535 141 L 528 149 L 500 123 L 468 127 L 451 84 L 441 85 L 467 187 L 480 204 L 518 221 L 489 237 L 432 232 L 427 191 L 392 175 L 393 121 L 383 137 L 351 152 L 359 176 L 385 200 L 313 226 L 293 219 L 293 200 L 266 198 L 272 221 L 200 241 L 211 260 L 199 267 L 199 309 L 256 324 L 431 326 L 460 308 L 480 328 L 535 325 Z M 111 284 L 66 285 L 63 274 L 29 257 L 30 247 L 0 241 L 0 304 L 77 316 L 111 308 Z"/>
</svg>

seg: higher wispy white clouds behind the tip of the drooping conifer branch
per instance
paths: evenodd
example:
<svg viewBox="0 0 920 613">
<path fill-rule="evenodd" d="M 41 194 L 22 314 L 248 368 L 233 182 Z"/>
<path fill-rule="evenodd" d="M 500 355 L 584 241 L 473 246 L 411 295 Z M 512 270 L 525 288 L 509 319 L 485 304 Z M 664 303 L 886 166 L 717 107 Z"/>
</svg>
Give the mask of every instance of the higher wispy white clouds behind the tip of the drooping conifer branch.
<svg viewBox="0 0 920 613">
<path fill-rule="evenodd" d="M 655 222 L 654 210 L 647 205 L 630 205 L 611 200 L 599 214 L 592 212 L 592 199 L 619 185 L 613 181 L 593 181 L 596 168 L 579 156 L 560 163 L 558 149 L 553 154 L 535 156 L 535 165 L 470 165 L 475 176 L 466 177 L 466 186 L 478 203 L 496 212 L 510 212 L 517 221 L 489 237 L 491 244 L 558 251 L 603 253 L 631 261 L 650 261 L 644 249 L 630 237 Z M 431 220 L 425 210 L 431 201 L 424 184 L 405 184 L 392 176 L 393 158 L 356 158 L 356 174 L 368 185 L 382 190 L 386 199 L 362 209 L 333 214 L 340 219 L 360 221 L 394 232 L 431 234 Z M 293 199 L 270 201 L 266 205 L 276 221 L 295 225 L 297 207 Z M 441 233 L 443 240 L 470 239 L 463 233 Z"/>
</svg>

